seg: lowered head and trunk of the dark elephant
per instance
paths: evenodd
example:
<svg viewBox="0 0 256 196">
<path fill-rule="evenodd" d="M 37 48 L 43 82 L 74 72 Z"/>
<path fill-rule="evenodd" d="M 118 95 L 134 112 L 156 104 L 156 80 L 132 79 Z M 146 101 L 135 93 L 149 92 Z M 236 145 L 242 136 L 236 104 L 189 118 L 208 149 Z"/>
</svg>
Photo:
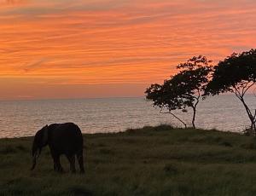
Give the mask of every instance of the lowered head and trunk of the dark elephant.
<svg viewBox="0 0 256 196">
<path fill-rule="evenodd" d="M 48 144 L 48 125 L 44 126 L 41 130 L 38 130 L 34 137 L 32 144 L 32 168 L 34 170 L 37 159 L 41 153 L 42 147 L 45 147 Z"/>
</svg>

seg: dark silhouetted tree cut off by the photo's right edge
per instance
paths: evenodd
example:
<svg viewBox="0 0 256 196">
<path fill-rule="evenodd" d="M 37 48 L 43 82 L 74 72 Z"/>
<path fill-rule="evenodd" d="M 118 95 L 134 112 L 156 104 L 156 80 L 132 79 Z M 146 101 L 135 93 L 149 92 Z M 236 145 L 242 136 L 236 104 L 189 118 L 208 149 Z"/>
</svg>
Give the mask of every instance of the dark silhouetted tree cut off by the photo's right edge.
<svg viewBox="0 0 256 196">
<path fill-rule="evenodd" d="M 245 107 L 251 122 L 251 130 L 255 131 L 256 110 L 248 107 L 245 101 L 247 91 L 256 84 L 256 49 L 241 54 L 233 53 L 213 67 L 212 80 L 207 84 L 205 95 L 218 95 L 231 92 Z"/>
</svg>

